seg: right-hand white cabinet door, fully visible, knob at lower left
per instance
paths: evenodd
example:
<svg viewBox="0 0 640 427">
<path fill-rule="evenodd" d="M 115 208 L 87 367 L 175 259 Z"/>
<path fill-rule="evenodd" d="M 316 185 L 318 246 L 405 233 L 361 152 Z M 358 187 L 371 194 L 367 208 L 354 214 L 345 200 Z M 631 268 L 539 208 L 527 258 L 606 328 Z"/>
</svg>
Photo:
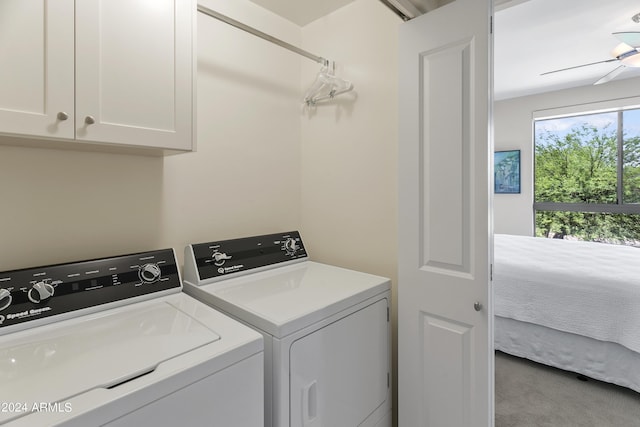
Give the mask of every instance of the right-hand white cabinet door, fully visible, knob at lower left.
<svg viewBox="0 0 640 427">
<path fill-rule="evenodd" d="M 76 139 L 192 147 L 195 4 L 76 3 Z"/>
</svg>

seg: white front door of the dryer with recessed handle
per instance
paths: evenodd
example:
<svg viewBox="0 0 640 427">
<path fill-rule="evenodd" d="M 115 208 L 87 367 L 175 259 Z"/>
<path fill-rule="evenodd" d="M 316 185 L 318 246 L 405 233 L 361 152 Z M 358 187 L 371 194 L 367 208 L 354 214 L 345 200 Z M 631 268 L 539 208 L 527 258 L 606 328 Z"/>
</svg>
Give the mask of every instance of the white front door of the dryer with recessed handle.
<svg viewBox="0 0 640 427">
<path fill-rule="evenodd" d="M 379 300 L 293 343 L 291 427 L 373 425 L 382 415 L 378 409 L 389 403 L 387 306 Z"/>
</svg>

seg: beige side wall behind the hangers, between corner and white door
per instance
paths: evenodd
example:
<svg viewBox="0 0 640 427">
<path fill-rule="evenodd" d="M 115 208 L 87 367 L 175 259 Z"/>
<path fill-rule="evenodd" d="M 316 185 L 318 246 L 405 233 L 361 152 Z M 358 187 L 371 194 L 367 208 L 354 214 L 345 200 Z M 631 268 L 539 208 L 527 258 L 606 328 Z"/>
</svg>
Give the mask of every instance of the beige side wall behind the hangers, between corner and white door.
<svg viewBox="0 0 640 427">
<path fill-rule="evenodd" d="M 400 23 L 382 3 L 356 0 L 302 29 L 305 49 L 336 61 L 355 88 L 302 112 L 303 237 L 315 260 L 392 279 L 393 330 Z M 318 71 L 303 63 L 304 89 Z"/>
</svg>

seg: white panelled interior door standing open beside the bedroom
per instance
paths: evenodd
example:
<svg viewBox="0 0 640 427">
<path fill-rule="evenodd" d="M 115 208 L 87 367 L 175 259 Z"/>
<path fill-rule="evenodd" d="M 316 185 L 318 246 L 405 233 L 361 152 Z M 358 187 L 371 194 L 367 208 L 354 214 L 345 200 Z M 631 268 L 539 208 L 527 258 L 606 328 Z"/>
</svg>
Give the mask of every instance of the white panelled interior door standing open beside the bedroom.
<svg viewBox="0 0 640 427">
<path fill-rule="evenodd" d="M 400 427 L 493 425 L 491 14 L 400 28 Z"/>
</svg>

